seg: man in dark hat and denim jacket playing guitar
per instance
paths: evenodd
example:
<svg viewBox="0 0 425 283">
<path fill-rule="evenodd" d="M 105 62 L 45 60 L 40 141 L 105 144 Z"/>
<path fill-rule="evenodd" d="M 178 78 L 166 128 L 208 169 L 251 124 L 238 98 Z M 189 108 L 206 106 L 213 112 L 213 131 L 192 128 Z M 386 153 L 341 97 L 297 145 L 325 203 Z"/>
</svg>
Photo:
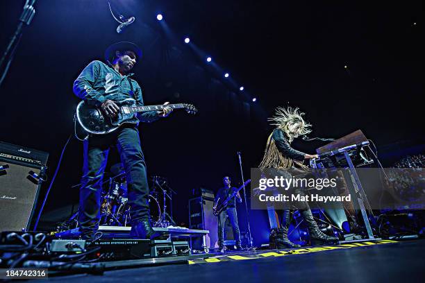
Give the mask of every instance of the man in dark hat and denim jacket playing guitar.
<svg viewBox="0 0 425 283">
<path fill-rule="evenodd" d="M 92 61 L 74 82 L 74 94 L 96 105 L 105 117 L 115 117 L 119 108 L 115 101 L 134 98 L 143 105 L 142 89 L 131 78 L 131 69 L 142 51 L 131 42 L 117 42 L 106 49 L 105 60 Z M 167 105 L 168 103 L 164 103 Z M 111 146 L 116 146 L 126 171 L 128 202 L 131 205 L 131 237 L 158 237 L 149 223 L 146 164 L 140 146 L 139 121 L 152 122 L 167 117 L 172 108 L 138 114 L 119 129 L 106 135 L 90 135 L 84 140 L 83 176 L 81 178 L 78 225 L 83 239 L 94 239 L 100 220 L 100 197 L 103 173 Z"/>
</svg>

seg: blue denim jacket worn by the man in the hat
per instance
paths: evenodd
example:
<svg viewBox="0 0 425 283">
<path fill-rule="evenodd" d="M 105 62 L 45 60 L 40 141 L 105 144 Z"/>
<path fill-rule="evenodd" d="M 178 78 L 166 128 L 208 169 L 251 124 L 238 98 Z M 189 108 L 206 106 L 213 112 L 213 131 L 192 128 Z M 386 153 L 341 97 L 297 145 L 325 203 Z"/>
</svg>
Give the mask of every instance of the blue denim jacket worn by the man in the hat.
<svg viewBox="0 0 425 283">
<path fill-rule="evenodd" d="M 74 94 L 92 105 L 99 107 L 103 101 L 122 101 L 126 98 L 135 99 L 142 106 L 142 89 L 138 82 L 130 78 L 133 74 L 121 76 L 115 69 L 105 63 L 95 60 L 81 71 L 74 82 Z M 130 85 L 131 84 L 131 85 Z M 138 114 L 137 118 L 128 123 L 152 122 L 159 119 L 158 112 L 150 111 Z"/>
</svg>

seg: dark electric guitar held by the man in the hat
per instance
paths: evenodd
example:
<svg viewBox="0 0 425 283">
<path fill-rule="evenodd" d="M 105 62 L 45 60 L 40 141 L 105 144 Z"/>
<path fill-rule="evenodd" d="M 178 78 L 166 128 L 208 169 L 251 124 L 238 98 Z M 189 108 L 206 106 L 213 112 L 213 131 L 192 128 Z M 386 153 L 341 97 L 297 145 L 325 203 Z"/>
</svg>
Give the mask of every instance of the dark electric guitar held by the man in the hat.
<svg viewBox="0 0 425 283">
<path fill-rule="evenodd" d="M 173 110 L 184 109 L 189 114 L 195 114 L 198 111 L 194 105 L 186 103 L 138 106 L 133 98 L 126 98 L 122 101 L 114 102 L 119 107 L 119 112 L 115 117 L 107 117 L 100 108 L 89 105 L 85 101 L 78 103 L 76 108 L 76 119 L 81 128 L 86 132 L 102 135 L 117 130 L 122 123 L 132 119 L 137 113 L 160 111 L 165 107 L 170 107 Z"/>
</svg>

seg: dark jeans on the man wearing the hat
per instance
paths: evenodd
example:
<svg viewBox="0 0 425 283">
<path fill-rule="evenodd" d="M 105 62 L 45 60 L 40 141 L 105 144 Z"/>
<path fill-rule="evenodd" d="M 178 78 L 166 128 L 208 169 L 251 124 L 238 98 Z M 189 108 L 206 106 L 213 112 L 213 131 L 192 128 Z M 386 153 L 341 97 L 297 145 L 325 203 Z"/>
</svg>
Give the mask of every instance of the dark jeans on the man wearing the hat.
<svg viewBox="0 0 425 283">
<path fill-rule="evenodd" d="M 135 126 L 128 124 L 106 135 L 92 135 L 84 141 L 78 213 L 78 223 L 84 237 L 92 237 L 99 228 L 101 184 L 111 146 L 117 146 L 126 171 L 131 220 L 149 220 L 146 164 L 139 132 Z"/>
</svg>

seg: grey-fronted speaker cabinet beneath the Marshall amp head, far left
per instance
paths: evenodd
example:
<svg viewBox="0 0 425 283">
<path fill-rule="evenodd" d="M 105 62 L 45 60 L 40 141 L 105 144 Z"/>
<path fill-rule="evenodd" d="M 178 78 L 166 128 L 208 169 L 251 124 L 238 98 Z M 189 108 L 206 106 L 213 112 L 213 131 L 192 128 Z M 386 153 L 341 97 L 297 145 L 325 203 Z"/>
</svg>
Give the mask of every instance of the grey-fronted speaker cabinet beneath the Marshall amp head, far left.
<svg viewBox="0 0 425 283">
<path fill-rule="evenodd" d="M 40 189 L 33 173 L 40 169 L 1 159 L 0 166 L 6 167 L 0 171 L 0 232 L 29 229 Z"/>
</svg>

